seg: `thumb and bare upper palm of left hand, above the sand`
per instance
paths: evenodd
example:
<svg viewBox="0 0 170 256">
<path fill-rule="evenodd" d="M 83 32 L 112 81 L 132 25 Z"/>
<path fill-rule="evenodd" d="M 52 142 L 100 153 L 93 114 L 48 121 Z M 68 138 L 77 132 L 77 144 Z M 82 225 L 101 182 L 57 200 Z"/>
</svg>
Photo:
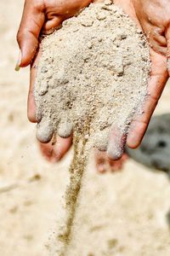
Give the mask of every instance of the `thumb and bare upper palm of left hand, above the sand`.
<svg viewBox="0 0 170 256">
<path fill-rule="evenodd" d="M 40 32 L 48 34 L 91 2 L 93 0 L 26 0 L 17 34 L 21 51 L 17 68 L 31 63 L 37 52 Z"/>
</svg>

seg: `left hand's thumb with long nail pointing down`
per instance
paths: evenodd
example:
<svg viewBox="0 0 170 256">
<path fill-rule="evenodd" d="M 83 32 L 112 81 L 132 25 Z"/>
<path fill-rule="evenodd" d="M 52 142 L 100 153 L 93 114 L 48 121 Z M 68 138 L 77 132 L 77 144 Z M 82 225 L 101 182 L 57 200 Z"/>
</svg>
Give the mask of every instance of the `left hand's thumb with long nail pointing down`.
<svg viewBox="0 0 170 256">
<path fill-rule="evenodd" d="M 28 66 L 37 51 L 38 37 L 45 20 L 42 1 L 26 0 L 17 41 L 20 47 L 20 57 L 15 70 Z"/>
</svg>

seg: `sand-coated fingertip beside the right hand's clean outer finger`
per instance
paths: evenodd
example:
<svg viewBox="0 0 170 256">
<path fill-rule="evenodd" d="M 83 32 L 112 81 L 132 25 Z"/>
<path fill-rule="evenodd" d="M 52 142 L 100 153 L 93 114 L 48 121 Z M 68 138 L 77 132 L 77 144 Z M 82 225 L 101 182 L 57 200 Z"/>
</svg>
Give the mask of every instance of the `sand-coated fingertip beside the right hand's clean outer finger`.
<svg viewBox="0 0 170 256">
<path fill-rule="evenodd" d="M 107 148 L 107 156 L 111 160 L 119 160 L 124 152 L 126 143 L 126 132 L 121 129 L 112 127 L 110 133 L 110 139 Z"/>
</svg>

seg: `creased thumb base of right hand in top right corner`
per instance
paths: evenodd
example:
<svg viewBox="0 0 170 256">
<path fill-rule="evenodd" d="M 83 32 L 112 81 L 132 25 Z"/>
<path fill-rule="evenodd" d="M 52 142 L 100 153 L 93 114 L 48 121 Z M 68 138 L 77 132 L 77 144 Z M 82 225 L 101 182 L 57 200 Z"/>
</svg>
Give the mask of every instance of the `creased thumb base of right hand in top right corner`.
<svg viewBox="0 0 170 256">
<path fill-rule="evenodd" d="M 169 0 L 133 0 L 133 6 L 150 46 L 162 55 L 170 48 Z"/>
</svg>

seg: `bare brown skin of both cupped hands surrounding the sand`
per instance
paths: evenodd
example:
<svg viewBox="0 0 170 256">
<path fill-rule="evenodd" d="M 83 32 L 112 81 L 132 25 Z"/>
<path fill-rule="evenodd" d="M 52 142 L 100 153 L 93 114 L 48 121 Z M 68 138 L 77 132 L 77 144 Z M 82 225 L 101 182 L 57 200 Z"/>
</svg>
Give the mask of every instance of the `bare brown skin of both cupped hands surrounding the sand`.
<svg viewBox="0 0 170 256">
<path fill-rule="evenodd" d="M 59 26 L 63 20 L 75 15 L 77 11 L 88 6 L 88 4 L 92 2 L 92 0 L 26 0 L 17 37 L 21 50 L 17 67 L 26 67 L 31 64 L 31 85 L 28 96 L 28 118 L 31 122 L 37 122 L 33 85 L 37 73 L 38 59 L 41 54 L 40 51 L 38 51 L 38 38 L 40 32 L 48 34 L 52 28 Z M 157 32 L 157 37 L 148 37 L 153 48 L 150 48 L 150 59 L 152 64 L 148 96 L 144 103 L 144 112 L 133 119 L 127 137 L 123 134 L 118 134 L 118 136 L 116 134 L 116 136 L 114 136 L 114 132 L 111 136 L 110 146 L 115 145 L 116 151 L 118 148 L 122 154 L 125 143 L 127 143 L 127 146 L 130 148 L 137 148 L 139 146 L 149 124 L 150 117 L 156 108 L 161 92 L 167 82 L 166 53 L 167 41 L 170 40 L 170 29 L 167 15 L 165 15 L 167 5 L 163 5 L 166 3 L 170 7 L 170 3 L 167 2 L 168 0 L 115 1 L 115 3 L 122 7 L 127 15 L 129 15 L 138 26 L 142 26 L 147 35 L 149 32 L 150 35 L 152 35 L 152 30 Z M 152 22 L 150 22 L 150 20 L 152 20 Z M 32 51 L 30 51 L 30 49 L 32 49 Z M 119 139 L 117 140 L 117 138 Z M 46 152 L 46 156 L 48 155 L 48 159 L 59 160 L 68 148 L 70 148 L 71 137 L 68 139 L 58 137 L 57 143 L 55 145 L 52 144 L 52 142 L 41 144 L 41 148 Z M 49 154 L 47 154 L 47 152 Z M 120 158 L 122 154 L 117 156 L 114 152 L 111 152 L 108 156 L 111 160 L 116 160 L 117 158 Z M 99 159 L 101 154 L 97 153 L 97 157 Z M 109 161 L 106 156 L 105 161 Z"/>
</svg>

